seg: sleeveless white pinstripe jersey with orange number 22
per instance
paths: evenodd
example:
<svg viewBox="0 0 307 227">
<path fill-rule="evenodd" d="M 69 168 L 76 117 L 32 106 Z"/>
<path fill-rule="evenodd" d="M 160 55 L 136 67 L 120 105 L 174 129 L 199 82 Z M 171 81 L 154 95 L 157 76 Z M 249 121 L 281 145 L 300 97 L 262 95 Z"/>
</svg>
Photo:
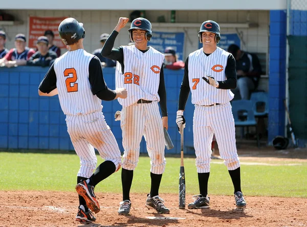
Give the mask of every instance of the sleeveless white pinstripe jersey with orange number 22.
<svg viewBox="0 0 307 227">
<path fill-rule="evenodd" d="M 126 88 L 126 99 L 118 98 L 123 107 L 133 105 L 139 99 L 160 101 L 158 89 L 160 84 L 160 69 L 164 55 L 149 47 L 143 53 L 135 45 L 122 46 L 124 52 L 124 72 L 117 62 L 116 88 Z"/>
</svg>

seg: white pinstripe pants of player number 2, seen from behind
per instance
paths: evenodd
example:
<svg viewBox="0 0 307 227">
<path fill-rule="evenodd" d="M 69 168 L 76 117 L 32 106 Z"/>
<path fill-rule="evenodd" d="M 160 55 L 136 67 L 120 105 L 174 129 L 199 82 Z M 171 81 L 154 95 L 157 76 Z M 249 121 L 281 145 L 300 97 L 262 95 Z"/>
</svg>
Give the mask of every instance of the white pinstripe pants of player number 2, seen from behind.
<svg viewBox="0 0 307 227">
<path fill-rule="evenodd" d="M 116 171 L 121 166 L 121 154 L 117 141 L 104 120 L 101 112 L 85 115 L 67 115 L 66 123 L 68 133 L 80 158 L 80 169 L 77 176 L 90 178 L 96 169 L 99 155 L 105 160 L 113 161 Z"/>
</svg>

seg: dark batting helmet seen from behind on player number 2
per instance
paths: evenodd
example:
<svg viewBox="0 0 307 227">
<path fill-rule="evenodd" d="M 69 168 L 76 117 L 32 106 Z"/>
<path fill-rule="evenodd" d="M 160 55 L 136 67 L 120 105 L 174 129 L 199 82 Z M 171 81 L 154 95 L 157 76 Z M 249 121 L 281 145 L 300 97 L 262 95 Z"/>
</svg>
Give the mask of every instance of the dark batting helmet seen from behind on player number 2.
<svg viewBox="0 0 307 227">
<path fill-rule="evenodd" d="M 75 18 L 66 18 L 59 25 L 59 35 L 65 45 L 72 45 L 85 37 L 83 24 Z"/>
</svg>

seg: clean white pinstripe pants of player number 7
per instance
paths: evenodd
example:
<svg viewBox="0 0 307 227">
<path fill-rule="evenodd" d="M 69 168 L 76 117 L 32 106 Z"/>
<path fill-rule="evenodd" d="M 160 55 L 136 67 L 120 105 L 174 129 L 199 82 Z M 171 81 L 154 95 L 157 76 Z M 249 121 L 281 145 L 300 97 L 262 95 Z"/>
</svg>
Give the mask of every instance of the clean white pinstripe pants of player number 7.
<svg viewBox="0 0 307 227">
<path fill-rule="evenodd" d="M 227 169 L 239 168 L 240 162 L 236 149 L 234 119 L 230 102 L 211 107 L 195 105 L 193 140 L 197 172 L 210 172 L 213 133 Z"/>
</svg>

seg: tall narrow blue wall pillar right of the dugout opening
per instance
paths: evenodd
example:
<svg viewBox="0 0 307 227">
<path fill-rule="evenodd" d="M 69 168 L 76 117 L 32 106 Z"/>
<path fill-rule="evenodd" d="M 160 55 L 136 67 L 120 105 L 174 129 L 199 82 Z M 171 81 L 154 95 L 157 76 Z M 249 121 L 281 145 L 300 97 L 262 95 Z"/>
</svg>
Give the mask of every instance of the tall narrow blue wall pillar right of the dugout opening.
<svg viewBox="0 0 307 227">
<path fill-rule="evenodd" d="M 286 10 L 270 11 L 268 143 L 284 135 L 286 97 Z"/>
</svg>

